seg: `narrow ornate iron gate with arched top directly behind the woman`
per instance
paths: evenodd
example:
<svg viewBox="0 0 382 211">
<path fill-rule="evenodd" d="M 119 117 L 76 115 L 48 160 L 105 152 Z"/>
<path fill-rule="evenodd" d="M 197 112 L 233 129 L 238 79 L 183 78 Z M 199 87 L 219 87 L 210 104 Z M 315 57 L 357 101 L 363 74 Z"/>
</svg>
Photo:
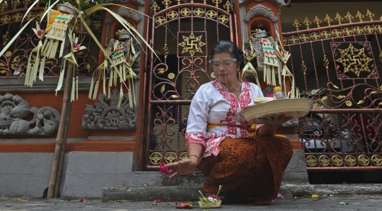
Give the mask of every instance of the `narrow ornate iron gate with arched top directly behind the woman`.
<svg viewBox="0 0 382 211">
<path fill-rule="evenodd" d="M 224 8 L 230 11 L 232 6 Z M 158 59 L 151 53 L 149 73 L 145 76 L 146 170 L 158 169 L 160 162 L 187 157 L 185 128 L 189 105 L 199 86 L 212 80 L 207 66 L 210 49 L 219 40 L 234 41 L 234 16 L 219 8 L 219 3 L 166 5 L 158 13 L 154 4 L 151 9 L 155 13 L 151 44 L 161 56 Z"/>
</svg>

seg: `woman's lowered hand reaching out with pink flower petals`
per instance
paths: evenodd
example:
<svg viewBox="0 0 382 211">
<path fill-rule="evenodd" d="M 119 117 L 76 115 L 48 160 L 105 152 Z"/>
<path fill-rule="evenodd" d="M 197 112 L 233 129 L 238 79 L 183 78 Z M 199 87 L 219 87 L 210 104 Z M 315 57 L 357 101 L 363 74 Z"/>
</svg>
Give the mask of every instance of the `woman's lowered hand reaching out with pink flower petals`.
<svg viewBox="0 0 382 211">
<path fill-rule="evenodd" d="M 173 179 L 175 176 L 182 176 L 192 174 L 197 167 L 198 159 L 195 156 L 180 160 L 178 162 L 173 162 L 170 164 L 166 164 L 165 167 L 168 169 L 173 169 L 174 174 L 171 174 L 169 177 Z"/>
</svg>

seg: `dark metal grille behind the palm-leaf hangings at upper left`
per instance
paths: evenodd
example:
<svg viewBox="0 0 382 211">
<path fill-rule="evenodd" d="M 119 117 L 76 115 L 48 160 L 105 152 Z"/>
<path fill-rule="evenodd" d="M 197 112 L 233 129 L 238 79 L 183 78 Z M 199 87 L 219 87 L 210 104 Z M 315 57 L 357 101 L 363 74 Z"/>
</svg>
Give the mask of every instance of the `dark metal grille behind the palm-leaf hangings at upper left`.
<svg viewBox="0 0 382 211">
<path fill-rule="evenodd" d="M 6 2 L 6 1 L 3 1 Z M 4 3 L 3 3 L 4 4 Z M 2 5 L 3 5 L 2 4 Z M 43 7 L 34 8 L 28 12 L 25 17 L 23 25 L 25 22 L 31 18 L 40 22 L 40 19 L 44 13 Z M 16 8 L 8 11 L 0 12 L 0 48 L 4 47 L 15 35 L 18 30 L 21 30 L 23 25 L 21 20 L 25 15 L 27 8 Z M 0 58 L 0 77 L 1 76 L 25 76 L 26 66 L 28 64 L 28 58 L 30 51 L 32 51 L 36 44 L 38 43 L 37 35 L 33 32 L 32 28 L 35 28 L 35 21 L 30 23 L 28 28 L 25 28 L 24 32 L 13 42 L 12 46 L 8 49 L 3 56 Z M 45 28 L 46 20 L 42 20 L 40 23 L 41 28 Z M 91 16 L 88 18 L 88 25 L 91 26 L 94 34 L 101 38 L 101 29 L 103 26 L 103 18 L 100 16 Z M 96 42 L 91 39 L 90 35 L 87 35 L 86 30 L 81 28 L 81 25 L 76 26 L 76 34 L 83 39 L 81 45 L 85 46 L 86 49 L 79 52 L 78 62 L 79 62 L 79 75 L 87 75 L 92 73 L 98 66 L 98 58 L 100 50 L 98 49 Z M 82 40 L 81 39 L 81 40 Z M 35 55 L 31 58 L 34 63 L 36 61 Z M 59 76 L 59 68 L 61 62 L 60 59 L 47 59 L 45 61 L 45 76 Z"/>
</svg>

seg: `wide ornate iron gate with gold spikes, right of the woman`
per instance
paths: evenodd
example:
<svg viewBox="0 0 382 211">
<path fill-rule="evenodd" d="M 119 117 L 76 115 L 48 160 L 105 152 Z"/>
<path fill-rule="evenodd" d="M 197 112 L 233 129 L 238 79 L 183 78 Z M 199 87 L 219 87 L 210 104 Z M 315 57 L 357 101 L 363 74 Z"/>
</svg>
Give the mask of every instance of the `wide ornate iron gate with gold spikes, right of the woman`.
<svg viewBox="0 0 382 211">
<path fill-rule="evenodd" d="M 327 15 L 325 27 L 316 17 L 313 29 L 306 19 L 306 30 L 296 20 L 297 31 L 283 33 L 300 94 L 316 100 L 298 128 L 308 171 L 382 169 L 382 18 L 373 16 L 353 23 L 348 13 L 341 23 L 337 13 L 331 25 Z"/>
</svg>

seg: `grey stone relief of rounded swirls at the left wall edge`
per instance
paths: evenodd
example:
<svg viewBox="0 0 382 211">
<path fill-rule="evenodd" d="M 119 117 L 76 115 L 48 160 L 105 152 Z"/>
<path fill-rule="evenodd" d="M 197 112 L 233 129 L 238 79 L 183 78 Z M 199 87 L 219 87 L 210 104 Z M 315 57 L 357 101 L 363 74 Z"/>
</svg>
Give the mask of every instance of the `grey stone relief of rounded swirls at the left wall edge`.
<svg viewBox="0 0 382 211">
<path fill-rule="evenodd" d="M 0 135 L 51 135 L 57 131 L 60 117 L 52 107 L 37 109 L 18 95 L 0 95 Z"/>
</svg>

